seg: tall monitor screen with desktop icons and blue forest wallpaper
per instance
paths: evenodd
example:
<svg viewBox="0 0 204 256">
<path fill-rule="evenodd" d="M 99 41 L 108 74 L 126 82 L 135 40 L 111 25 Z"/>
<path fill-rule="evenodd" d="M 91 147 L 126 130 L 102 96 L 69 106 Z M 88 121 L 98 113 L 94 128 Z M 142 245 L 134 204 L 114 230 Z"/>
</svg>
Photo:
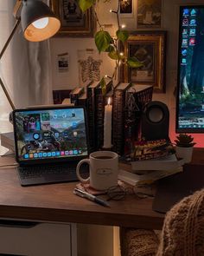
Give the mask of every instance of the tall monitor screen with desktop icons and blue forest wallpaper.
<svg viewBox="0 0 204 256">
<path fill-rule="evenodd" d="M 204 5 L 180 7 L 176 132 L 204 132 Z"/>
</svg>

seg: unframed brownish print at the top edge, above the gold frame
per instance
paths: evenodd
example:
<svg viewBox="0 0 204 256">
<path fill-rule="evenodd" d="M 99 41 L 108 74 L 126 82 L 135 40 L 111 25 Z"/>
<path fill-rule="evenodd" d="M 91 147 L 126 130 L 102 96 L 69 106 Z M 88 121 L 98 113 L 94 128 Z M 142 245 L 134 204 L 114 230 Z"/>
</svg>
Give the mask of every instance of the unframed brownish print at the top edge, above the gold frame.
<svg viewBox="0 0 204 256">
<path fill-rule="evenodd" d="M 163 0 L 138 0 L 137 29 L 158 29 L 162 26 Z"/>
</svg>

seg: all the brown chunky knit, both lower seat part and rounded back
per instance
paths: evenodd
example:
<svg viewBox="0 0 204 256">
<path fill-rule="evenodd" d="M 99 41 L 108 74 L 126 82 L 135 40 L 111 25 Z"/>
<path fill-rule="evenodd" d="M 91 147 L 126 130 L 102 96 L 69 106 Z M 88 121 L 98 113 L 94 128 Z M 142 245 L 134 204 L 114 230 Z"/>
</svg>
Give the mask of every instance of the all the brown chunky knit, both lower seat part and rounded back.
<svg viewBox="0 0 204 256">
<path fill-rule="evenodd" d="M 121 227 L 120 239 L 121 256 L 204 256 L 204 189 L 167 213 L 159 246 L 150 230 Z"/>
</svg>

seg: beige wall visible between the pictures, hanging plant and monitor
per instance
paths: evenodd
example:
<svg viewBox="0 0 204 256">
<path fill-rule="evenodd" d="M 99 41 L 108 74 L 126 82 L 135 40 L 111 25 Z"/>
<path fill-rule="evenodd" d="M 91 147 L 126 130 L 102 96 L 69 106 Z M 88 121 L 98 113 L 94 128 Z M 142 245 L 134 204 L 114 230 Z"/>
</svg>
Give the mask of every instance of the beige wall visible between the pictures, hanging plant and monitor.
<svg viewBox="0 0 204 256">
<path fill-rule="evenodd" d="M 116 24 L 116 16 L 109 10 L 116 10 L 117 2 L 112 0 L 107 3 L 99 3 L 99 20 L 101 23 L 112 24 L 108 27 L 111 33 L 114 32 Z M 169 135 L 172 141 L 175 138 L 175 96 L 173 95 L 176 86 L 176 70 L 177 70 L 177 40 L 178 40 L 178 14 L 179 5 L 186 3 L 203 3 L 203 0 L 185 1 L 185 0 L 163 0 L 163 30 L 168 31 L 167 49 L 166 49 L 166 93 L 154 94 L 153 100 L 165 102 L 169 106 L 170 112 L 170 131 Z M 136 28 L 136 10 L 137 3 L 134 1 L 134 15 L 124 18 L 122 23 L 126 24 L 127 30 L 137 30 Z M 52 62 L 53 62 L 53 88 L 54 89 L 72 89 L 79 85 L 77 50 L 94 48 L 93 38 L 53 38 L 51 40 Z M 69 71 L 67 75 L 59 74 L 56 69 L 56 55 L 59 53 L 69 53 Z M 112 75 L 114 63 L 102 54 L 103 69 L 101 75 Z M 111 73 L 111 74 L 110 74 Z M 204 147 L 204 135 L 194 135 L 197 147 Z M 203 142 L 201 142 L 203 141 Z"/>
</svg>

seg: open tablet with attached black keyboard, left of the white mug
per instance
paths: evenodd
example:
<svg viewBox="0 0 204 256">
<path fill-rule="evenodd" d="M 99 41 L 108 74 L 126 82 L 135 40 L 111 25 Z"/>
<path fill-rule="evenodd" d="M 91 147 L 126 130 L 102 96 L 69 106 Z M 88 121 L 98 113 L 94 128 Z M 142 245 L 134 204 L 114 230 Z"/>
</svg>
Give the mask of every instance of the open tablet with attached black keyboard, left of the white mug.
<svg viewBox="0 0 204 256">
<path fill-rule="evenodd" d="M 76 166 L 89 154 L 85 108 L 16 109 L 13 124 L 22 186 L 78 180 Z"/>
</svg>

